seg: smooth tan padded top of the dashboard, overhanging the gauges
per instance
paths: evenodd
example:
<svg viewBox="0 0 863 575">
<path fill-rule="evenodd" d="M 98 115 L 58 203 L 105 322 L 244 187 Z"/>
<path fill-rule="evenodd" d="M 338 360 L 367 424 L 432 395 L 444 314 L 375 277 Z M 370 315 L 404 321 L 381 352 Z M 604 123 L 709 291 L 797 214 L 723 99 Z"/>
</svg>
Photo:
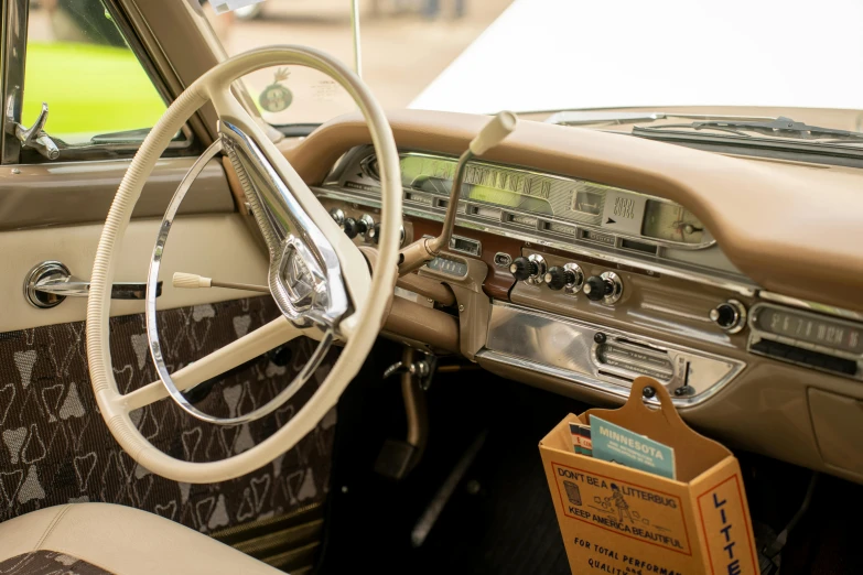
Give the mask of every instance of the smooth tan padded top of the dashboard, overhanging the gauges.
<svg viewBox="0 0 863 575">
<path fill-rule="evenodd" d="M 389 119 L 401 149 L 451 154 L 464 151 L 488 121 L 484 116 L 424 110 L 396 110 Z M 359 116 L 349 115 L 284 153 L 308 183 L 320 184 L 345 151 L 369 141 Z M 731 261 L 762 288 L 863 308 L 863 273 L 849 273 L 863 270 L 863 228 L 857 221 L 863 176 L 856 172 L 748 161 L 533 121 L 521 121 L 483 159 L 672 199 L 691 209 Z M 826 187 L 829 202 L 819 192 Z M 757 194 L 752 193 L 755 188 Z"/>
</svg>

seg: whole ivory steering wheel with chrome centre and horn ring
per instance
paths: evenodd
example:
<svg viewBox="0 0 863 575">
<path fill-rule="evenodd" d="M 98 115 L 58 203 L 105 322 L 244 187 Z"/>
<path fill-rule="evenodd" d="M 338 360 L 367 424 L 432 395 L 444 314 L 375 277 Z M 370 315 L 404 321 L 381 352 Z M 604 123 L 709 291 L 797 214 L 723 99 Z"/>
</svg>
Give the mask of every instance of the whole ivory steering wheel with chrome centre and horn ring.
<svg viewBox="0 0 863 575">
<path fill-rule="evenodd" d="M 359 107 L 371 133 L 381 184 L 380 242 L 375 273 L 319 203 L 265 131 L 231 94 L 241 76 L 269 66 L 298 65 L 322 72 L 341 84 Z M 219 138 L 186 174 L 169 205 L 157 239 L 147 290 L 150 352 L 160 380 L 127 394 L 114 378 L 108 317 L 118 248 L 132 209 L 153 167 L 174 134 L 206 101 L 219 118 Z M 206 161 L 224 151 L 230 159 L 270 258 L 268 284 L 281 315 L 233 344 L 168 373 L 155 326 L 155 281 L 176 208 Z M 369 89 L 348 68 L 313 48 L 271 46 L 219 63 L 190 86 L 157 122 L 126 172 L 99 239 L 87 303 L 87 359 L 101 416 L 120 446 L 141 466 L 175 481 L 215 482 L 250 473 L 292 448 L 312 431 L 356 376 L 377 338 L 396 281 L 401 174 L 389 123 Z M 306 368 L 270 403 L 231 420 L 198 412 L 182 390 L 214 378 L 299 335 L 320 340 Z M 209 463 L 176 459 L 155 448 L 138 431 L 130 413 L 171 397 L 192 415 L 215 424 L 251 421 L 287 401 L 316 367 L 334 338 L 344 349 L 312 398 L 266 441 L 231 457 Z"/>
</svg>

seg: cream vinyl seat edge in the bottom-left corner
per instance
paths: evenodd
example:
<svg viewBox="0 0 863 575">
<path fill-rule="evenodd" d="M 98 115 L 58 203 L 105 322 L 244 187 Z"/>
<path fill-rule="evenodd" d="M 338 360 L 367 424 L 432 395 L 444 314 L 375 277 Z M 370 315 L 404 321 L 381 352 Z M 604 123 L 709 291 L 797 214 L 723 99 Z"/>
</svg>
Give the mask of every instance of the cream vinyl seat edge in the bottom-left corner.
<svg viewBox="0 0 863 575">
<path fill-rule="evenodd" d="M 0 523 L 0 573 L 55 571 L 88 575 L 282 573 L 179 523 L 122 506 L 56 506 Z"/>
</svg>

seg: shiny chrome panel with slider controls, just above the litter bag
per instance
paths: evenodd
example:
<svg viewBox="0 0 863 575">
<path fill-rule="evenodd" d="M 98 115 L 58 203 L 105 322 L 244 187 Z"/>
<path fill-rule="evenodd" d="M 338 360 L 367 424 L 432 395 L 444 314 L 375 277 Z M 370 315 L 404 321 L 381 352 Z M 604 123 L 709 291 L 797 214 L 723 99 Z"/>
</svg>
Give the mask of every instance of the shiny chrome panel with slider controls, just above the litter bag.
<svg viewBox="0 0 863 575">
<path fill-rule="evenodd" d="M 486 345 L 476 357 L 628 398 L 632 379 L 645 371 L 601 362 L 594 339 L 597 333 L 605 336 L 602 343 L 618 350 L 635 350 L 627 365 L 651 365 L 645 371 L 660 371 L 656 359 L 667 359 L 672 372 L 661 383 L 672 393 L 679 409 L 714 397 L 746 367 L 737 359 L 503 302 L 492 305 Z M 644 357 L 639 359 L 639 355 Z M 673 391 L 683 386 L 690 386 L 694 393 L 676 395 Z M 655 398 L 647 402 L 658 404 Z"/>
</svg>

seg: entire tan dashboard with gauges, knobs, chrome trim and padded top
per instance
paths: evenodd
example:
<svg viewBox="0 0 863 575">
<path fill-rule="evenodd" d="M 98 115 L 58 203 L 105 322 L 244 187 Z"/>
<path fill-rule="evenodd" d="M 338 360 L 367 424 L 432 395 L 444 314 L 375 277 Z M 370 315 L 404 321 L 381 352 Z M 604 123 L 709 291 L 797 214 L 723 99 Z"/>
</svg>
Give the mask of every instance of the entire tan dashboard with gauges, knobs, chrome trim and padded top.
<svg viewBox="0 0 863 575">
<path fill-rule="evenodd" d="M 440 232 L 459 151 L 484 120 L 404 113 L 391 123 L 407 246 Z M 345 232 L 374 249 L 379 175 L 353 122 L 287 155 Z M 830 270 L 838 261 L 856 269 L 835 240 L 859 226 L 819 202 L 805 207 L 829 226 L 778 225 L 800 207 L 795 186 L 811 196 L 819 181 L 822 194 L 832 186 L 842 196 L 863 175 L 533 124 L 468 164 L 449 250 L 397 284 L 397 300 L 429 315 L 385 333 L 591 404 L 622 403 L 648 375 L 703 433 L 863 482 L 863 302 L 844 295 L 854 279 L 837 282 Z M 303 161 L 311 151 L 313 170 Z M 325 170 L 322 160 L 332 160 Z M 777 185 L 796 205 L 759 204 L 783 197 Z M 747 196 L 757 217 L 738 209 Z M 809 297 L 813 285 L 792 272 L 815 265 L 823 281 Z M 423 334 L 422 323 L 435 327 Z"/>
</svg>

